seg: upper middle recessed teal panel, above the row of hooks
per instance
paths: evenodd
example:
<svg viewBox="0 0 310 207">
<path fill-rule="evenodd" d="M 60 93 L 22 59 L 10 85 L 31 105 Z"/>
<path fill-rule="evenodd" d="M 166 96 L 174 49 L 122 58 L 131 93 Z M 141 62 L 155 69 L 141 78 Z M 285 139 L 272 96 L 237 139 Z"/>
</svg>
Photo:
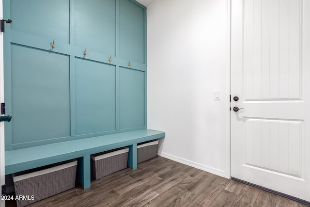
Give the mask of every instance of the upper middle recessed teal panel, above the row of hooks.
<svg viewBox="0 0 310 207">
<path fill-rule="evenodd" d="M 116 55 L 115 0 L 75 0 L 75 43 Z"/>
</svg>

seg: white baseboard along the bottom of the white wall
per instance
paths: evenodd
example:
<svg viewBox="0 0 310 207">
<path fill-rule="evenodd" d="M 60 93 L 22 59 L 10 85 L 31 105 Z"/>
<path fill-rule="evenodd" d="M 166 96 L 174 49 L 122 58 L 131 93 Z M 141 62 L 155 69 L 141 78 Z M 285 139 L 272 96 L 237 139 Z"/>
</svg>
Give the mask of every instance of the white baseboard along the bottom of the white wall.
<svg viewBox="0 0 310 207">
<path fill-rule="evenodd" d="M 164 153 L 164 152 L 158 153 L 158 155 L 163 157 L 163 158 L 171 159 L 173 161 L 180 162 L 182 164 L 186 164 L 188 166 L 191 166 L 191 167 L 194 167 L 194 168 L 206 171 L 208 173 L 212 173 L 212 174 L 215 174 L 215 175 L 219 175 L 221 177 L 225 177 L 225 172 L 223 170 L 219 170 L 219 169 L 216 169 L 216 168 L 213 168 L 213 167 L 202 165 L 200 163 L 193 162 L 193 161 L 190 161 L 190 160 L 187 160 L 187 159 L 179 158 L 179 157 L 176 157 L 174 155 L 170 155 L 170 154 L 167 154 L 167 153 Z"/>
</svg>

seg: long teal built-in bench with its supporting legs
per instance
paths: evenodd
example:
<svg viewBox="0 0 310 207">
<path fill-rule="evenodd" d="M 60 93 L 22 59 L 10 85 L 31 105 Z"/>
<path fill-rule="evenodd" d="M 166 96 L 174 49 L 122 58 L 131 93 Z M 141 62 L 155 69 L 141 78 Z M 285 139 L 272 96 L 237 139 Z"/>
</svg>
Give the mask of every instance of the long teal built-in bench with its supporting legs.
<svg viewBox="0 0 310 207">
<path fill-rule="evenodd" d="M 77 178 L 84 189 L 87 189 L 91 187 L 91 154 L 128 146 L 128 166 L 134 170 L 137 168 L 137 143 L 163 137 L 163 131 L 141 129 L 6 151 L 5 175 L 78 159 Z"/>
</svg>

